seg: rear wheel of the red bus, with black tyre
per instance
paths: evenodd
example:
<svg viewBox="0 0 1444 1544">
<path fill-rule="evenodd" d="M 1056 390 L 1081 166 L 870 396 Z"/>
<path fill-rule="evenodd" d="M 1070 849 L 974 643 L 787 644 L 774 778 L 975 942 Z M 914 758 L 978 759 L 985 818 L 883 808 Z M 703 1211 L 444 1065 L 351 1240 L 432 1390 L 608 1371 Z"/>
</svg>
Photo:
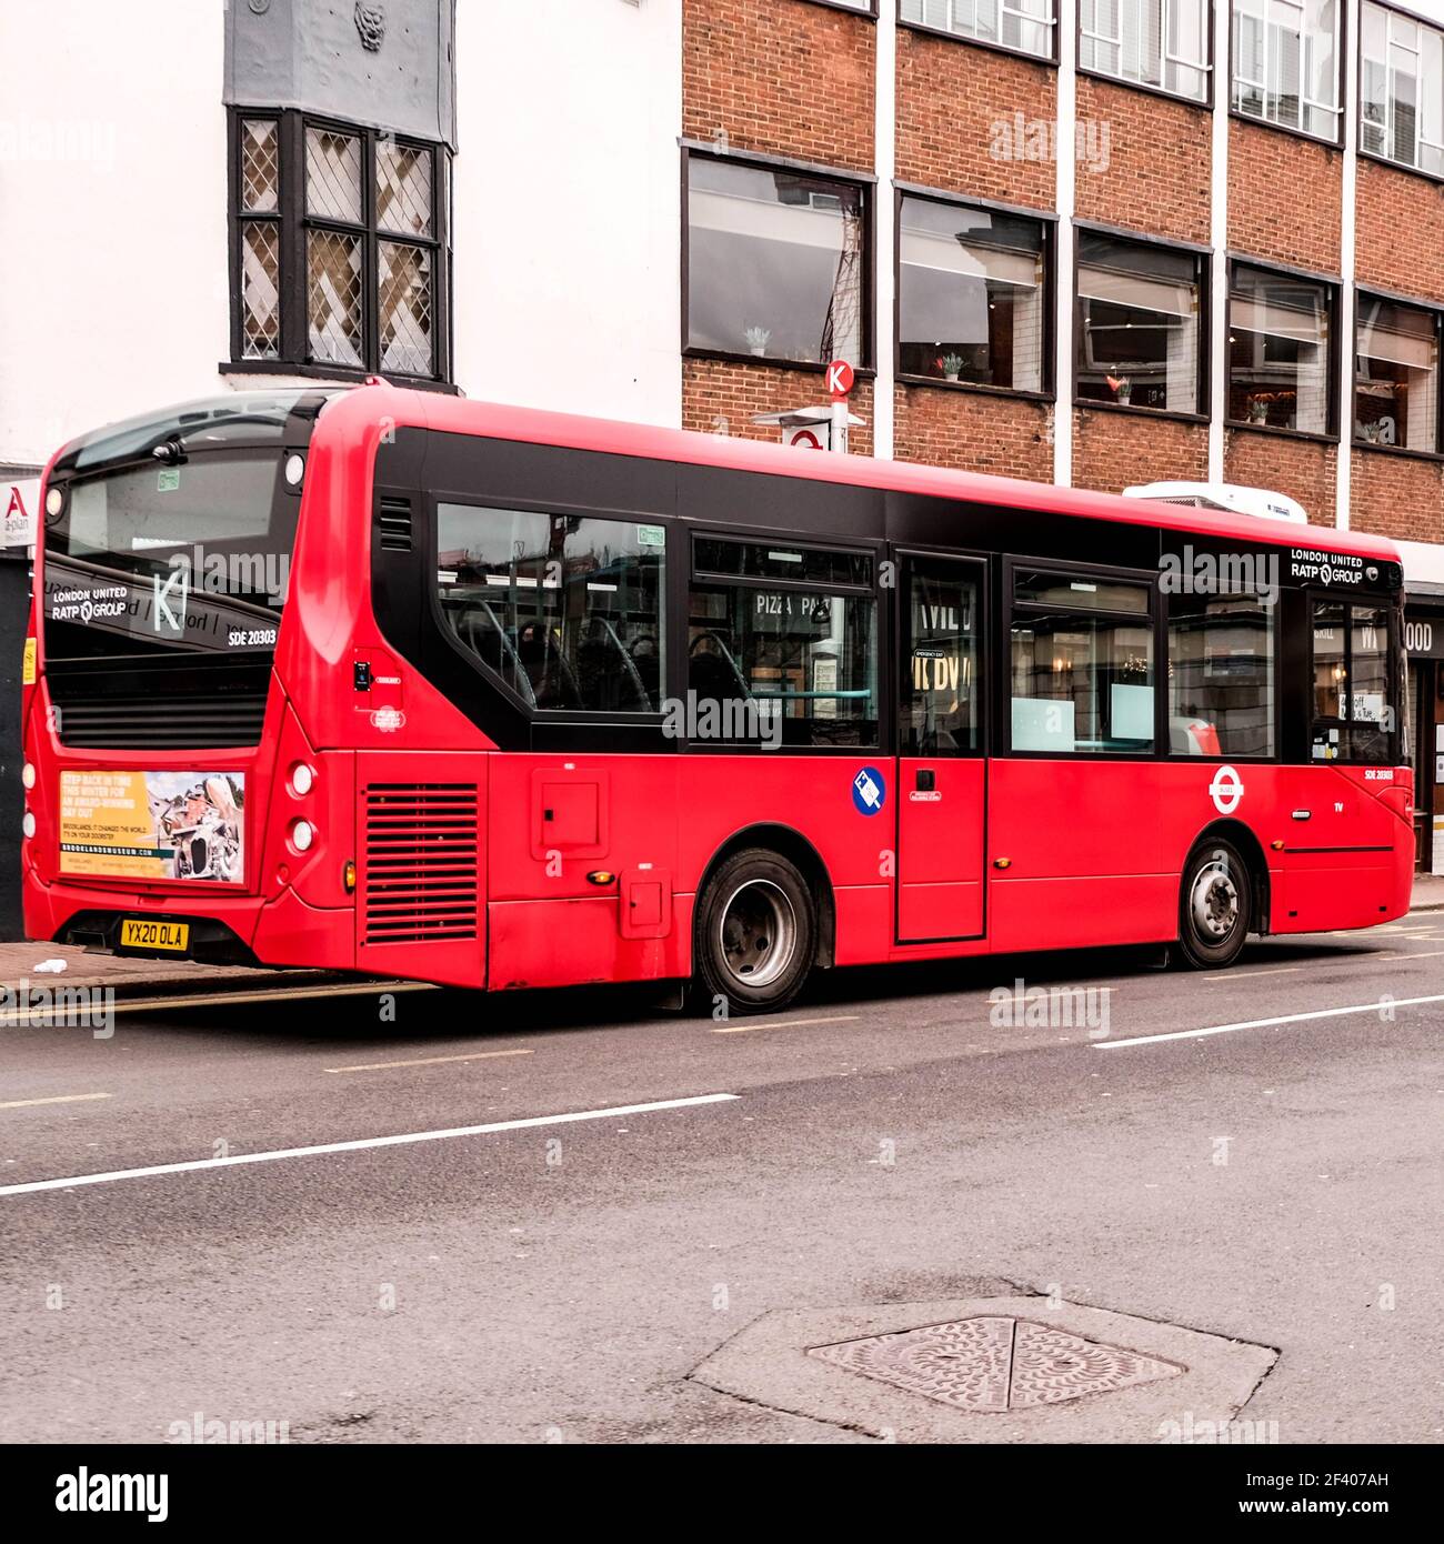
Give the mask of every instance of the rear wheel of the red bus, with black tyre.
<svg viewBox="0 0 1444 1544">
<path fill-rule="evenodd" d="M 768 848 L 734 852 L 697 908 L 693 960 L 709 1010 L 775 1013 L 808 979 L 817 954 L 817 905 L 795 865 Z"/>
</svg>

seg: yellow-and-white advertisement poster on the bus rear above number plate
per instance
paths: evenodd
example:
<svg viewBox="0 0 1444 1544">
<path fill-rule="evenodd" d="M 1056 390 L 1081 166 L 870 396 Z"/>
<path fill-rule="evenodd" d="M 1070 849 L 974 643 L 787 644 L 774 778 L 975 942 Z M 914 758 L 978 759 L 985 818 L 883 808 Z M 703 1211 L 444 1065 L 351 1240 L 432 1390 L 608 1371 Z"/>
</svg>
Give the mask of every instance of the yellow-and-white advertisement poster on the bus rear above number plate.
<svg viewBox="0 0 1444 1544">
<path fill-rule="evenodd" d="M 62 772 L 60 872 L 246 877 L 242 772 Z"/>
</svg>

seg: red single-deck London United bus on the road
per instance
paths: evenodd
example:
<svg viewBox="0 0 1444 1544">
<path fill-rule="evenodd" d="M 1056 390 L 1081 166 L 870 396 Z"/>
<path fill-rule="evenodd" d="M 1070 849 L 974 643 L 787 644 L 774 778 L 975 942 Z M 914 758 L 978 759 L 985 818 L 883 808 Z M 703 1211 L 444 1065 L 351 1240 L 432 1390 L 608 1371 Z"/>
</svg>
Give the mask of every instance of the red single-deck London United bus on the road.
<svg viewBox="0 0 1444 1544">
<path fill-rule="evenodd" d="M 476 988 L 1408 908 L 1384 540 L 372 383 L 66 446 L 36 939 Z"/>
</svg>

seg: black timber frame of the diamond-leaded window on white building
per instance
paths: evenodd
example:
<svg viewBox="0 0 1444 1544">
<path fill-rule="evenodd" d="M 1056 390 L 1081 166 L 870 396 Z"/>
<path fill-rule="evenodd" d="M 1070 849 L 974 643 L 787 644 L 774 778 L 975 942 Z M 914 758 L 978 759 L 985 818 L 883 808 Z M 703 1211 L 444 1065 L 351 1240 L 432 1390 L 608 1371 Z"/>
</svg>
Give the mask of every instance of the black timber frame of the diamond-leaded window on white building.
<svg viewBox="0 0 1444 1544">
<path fill-rule="evenodd" d="M 244 196 L 246 125 L 275 124 L 276 196 L 273 207 L 250 208 Z M 360 219 L 307 213 L 306 139 L 309 130 L 354 137 L 360 145 Z M 397 145 L 431 156 L 429 230 L 383 229 L 377 218 L 377 148 Z M 230 227 L 230 358 L 222 374 L 303 375 L 364 380 L 385 375 L 408 386 L 453 391 L 451 309 L 451 151 L 445 144 L 392 134 L 297 108 L 232 107 L 227 110 L 227 199 Z M 278 253 L 278 343 L 273 354 L 246 352 L 244 255 L 249 232 L 269 225 Z M 318 360 L 310 350 L 307 233 L 352 236 L 361 250 L 361 363 Z M 431 371 L 388 366 L 381 358 L 380 253 L 383 244 L 422 249 L 431 266 Z"/>
</svg>

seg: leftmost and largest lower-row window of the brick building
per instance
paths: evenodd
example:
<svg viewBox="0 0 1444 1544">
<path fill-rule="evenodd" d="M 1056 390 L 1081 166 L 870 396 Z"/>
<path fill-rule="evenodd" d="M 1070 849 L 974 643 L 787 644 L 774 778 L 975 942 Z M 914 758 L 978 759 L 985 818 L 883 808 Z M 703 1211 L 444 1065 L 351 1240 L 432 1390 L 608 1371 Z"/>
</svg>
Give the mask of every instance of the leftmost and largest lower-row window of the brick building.
<svg viewBox="0 0 1444 1544">
<path fill-rule="evenodd" d="M 860 185 L 687 157 L 689 347 L 865 366 L 866 269 Z"/>
</svg>

